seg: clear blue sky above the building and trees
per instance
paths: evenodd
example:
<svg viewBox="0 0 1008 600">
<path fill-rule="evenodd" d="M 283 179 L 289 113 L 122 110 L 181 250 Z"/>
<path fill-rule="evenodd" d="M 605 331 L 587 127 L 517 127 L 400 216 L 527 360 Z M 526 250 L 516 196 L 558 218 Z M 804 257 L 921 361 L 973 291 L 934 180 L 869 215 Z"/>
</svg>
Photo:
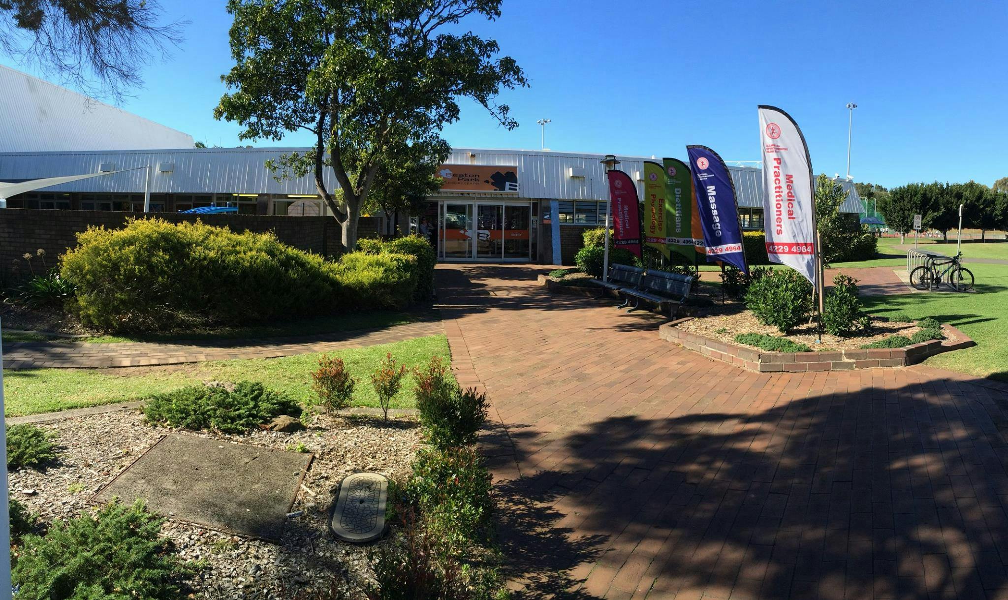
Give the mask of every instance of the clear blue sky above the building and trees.
<svg viewBox="0 0 1008 600">
<path fill-rule="evenodd" d="M 123 108 L 238 145 L 240 128 L 214 120 L 231 67 L 224 2 L 162 0 L 190 19 L 182 46 L 146 70 Z M 456 146 L 684 157 L 713 147 L 758 160 L 756 106 L 791 114 L 816 172 L 844 174 L 855 102 L 851 173 L 990 185 L 1008 175 L 1008 3 L 595 2 L 504 0 L 495 22 L 468 26 L 498 39 L 531 81 L 502 95 L 521 126 L 506 131 L 478 106 L 445 130 Z M 22 66 L 12 67 L 31 71 Z M 307 145 L 304 135 L 255 145 Z"/>
</svg>

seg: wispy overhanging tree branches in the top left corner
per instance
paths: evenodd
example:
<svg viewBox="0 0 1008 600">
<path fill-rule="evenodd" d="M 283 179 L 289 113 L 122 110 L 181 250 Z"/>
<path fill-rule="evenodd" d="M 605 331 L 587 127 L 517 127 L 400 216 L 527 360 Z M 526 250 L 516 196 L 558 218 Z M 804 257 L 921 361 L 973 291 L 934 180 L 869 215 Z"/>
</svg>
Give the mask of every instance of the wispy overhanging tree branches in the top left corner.
<svg viewBox="0 0 1008 600">
<path fill-rule="evenodd" d="M 93 96 L 122 99 L 181 41 L 153 0 L 0 0 L 0 50 Z"/>
</svg>

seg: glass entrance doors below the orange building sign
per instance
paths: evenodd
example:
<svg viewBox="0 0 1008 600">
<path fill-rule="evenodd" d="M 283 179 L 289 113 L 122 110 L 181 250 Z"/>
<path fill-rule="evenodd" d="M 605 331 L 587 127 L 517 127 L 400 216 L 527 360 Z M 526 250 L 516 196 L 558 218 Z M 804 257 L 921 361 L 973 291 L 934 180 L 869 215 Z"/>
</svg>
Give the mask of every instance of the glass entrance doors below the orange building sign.
<svg viewBox="0 0 1008 600">
<path fill-rule="evenodd" d="M 532 206 L 529 202 L 439 201 L 437 225 L 439 260 L 532 260 Z"/>
</svg>

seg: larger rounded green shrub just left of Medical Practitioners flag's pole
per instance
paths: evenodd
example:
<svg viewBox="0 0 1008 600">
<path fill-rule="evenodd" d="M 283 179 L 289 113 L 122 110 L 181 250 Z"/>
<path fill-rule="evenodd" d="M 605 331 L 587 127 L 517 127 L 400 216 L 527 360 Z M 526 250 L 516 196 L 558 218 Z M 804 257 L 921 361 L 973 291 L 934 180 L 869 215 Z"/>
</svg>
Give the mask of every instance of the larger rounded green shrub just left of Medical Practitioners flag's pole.
<svg viewBox="0 0 1008 600">
<path fill-rule="evenodd" d="M 746 307 L 763 325 L 787 333 L 807 319 L 812 309 L 812 284 L 792 269 L 772 271 L 749 285 Z"/>
</svg>

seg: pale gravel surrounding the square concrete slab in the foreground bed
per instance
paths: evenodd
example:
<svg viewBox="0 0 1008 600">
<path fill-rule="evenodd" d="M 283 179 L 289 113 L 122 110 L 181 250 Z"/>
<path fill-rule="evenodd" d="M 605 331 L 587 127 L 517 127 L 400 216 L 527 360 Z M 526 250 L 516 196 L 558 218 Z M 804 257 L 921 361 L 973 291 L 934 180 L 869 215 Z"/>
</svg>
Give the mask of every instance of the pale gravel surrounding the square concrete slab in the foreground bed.
<svg viewBox="0 0 1008 600">
<path fill-rule="evenodd" d="M 181 559 L 194 561 L 199 575 L 188 583 L 196 598 L 298 598 L 313 590 L 359 595 L 370 577 L 368 548 L 340 543 L 327 530 L 334 493 L 343 477 L 377 472 L 402 480 L 420 446 L 411 418 L 387 424 L 369 416 L 308 419 L 306 431 L 281 434 L 256 431 L 243 436 L 186 433 L 222 442 L 240 442 L 314 454 L 281 544 L 250 541 L 204 525 L 169 518 L 162 534 Z M 142 423 L 137 411 L 79 416 L 42 426 L 58 434 L 58 462 L 44 471 L 10 474 L 11 498 L 40 515 L 45 523 L 79 514 L 95 492 L 171 430 Z M 385 544 L 385 542 L 379 543 Z M 337 596 L 334 596 L 337 597 Z"/>
</svg>

